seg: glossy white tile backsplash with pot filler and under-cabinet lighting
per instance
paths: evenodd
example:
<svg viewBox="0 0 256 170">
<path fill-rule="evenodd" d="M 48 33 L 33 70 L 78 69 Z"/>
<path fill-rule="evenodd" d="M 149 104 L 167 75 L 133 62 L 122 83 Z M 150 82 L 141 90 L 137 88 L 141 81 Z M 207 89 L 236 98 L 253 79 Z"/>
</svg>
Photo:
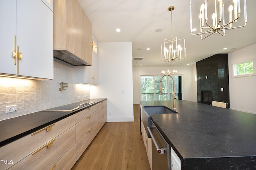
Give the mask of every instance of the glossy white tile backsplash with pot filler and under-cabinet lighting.
<svg viewBox="0 0 256 170">
<path fill-rule="evenodd" d="M 73 66 L 54 59 L 53 80 L 0 77 L 0 121 L 90 99 L 90 86 L 73 84 L 73 74 Z M 61 82 L 68 83 L 65 91 L 59 91 Z M 17 105 L 17 111 L 6 113 L 11 105 Z"/>
</svg>

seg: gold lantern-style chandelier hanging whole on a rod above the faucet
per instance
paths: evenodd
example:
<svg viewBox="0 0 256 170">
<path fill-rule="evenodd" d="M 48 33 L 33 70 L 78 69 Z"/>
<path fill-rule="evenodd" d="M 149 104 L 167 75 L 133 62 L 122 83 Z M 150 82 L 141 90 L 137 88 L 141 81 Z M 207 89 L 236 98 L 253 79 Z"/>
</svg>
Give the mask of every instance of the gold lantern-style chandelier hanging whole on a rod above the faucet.
<svg viewBox="0 0 256 170">
<path fill-rule="evenodd" d="M 172 11 L 174 6 L 170 6 L 168 10 L 171 12 L 171 28 L 172 28 Z M 184 50 L 182 50 L 182 45 Z M 172 61 L 180 61 L 186 58 L 186 46 L 185 39 L 177 39 L 172 37 L 172 40 L 164 39 L 164 43 L 161 44 L 162 62 L 171 63 Z"/>
</svg>

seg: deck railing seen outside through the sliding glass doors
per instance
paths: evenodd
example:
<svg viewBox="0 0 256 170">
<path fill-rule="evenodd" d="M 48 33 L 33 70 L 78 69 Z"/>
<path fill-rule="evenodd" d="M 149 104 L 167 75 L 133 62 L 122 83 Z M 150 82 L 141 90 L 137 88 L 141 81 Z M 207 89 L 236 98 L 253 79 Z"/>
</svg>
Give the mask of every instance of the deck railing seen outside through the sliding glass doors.
<svg viewBox="0 0 256 170">
<path fill-rule="evenodd" d="M 176 100 L 179 100 L 179 93 L 176 94 Z M 170 95 L 170 100 L 172 100 L 172 93 Z M 168 93 L 162 93 L 162 95 L 159 95 L 159 93 L 156 93 L 156 99 L 154 99 L 154 93 L 142 93 L 141 94 L 141 100 L 142 101 L 150 101 L 150 100 L 168 100 Z"/>
</svg>

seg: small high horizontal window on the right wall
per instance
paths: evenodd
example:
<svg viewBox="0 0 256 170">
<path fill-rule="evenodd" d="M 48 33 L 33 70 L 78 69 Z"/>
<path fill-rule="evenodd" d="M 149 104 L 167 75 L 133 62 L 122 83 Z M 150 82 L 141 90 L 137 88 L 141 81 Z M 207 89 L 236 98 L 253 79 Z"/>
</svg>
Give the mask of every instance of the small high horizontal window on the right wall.
<svg viewBox="0 0 256 170">
<path fill-rule="evenodd" d="M 253 74 L 253 62 L 248 61 L 245 63 L 233 64 L 233 70 L 234 76 Z"/>
</svg>

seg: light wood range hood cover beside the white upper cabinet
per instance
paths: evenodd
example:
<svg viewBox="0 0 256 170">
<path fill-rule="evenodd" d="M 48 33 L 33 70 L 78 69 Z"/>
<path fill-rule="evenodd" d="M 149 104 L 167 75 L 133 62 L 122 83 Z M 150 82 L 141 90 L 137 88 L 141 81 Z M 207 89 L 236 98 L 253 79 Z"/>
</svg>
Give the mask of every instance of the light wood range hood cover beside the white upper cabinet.
<svg viewBox="0 0 256 170">
<path fill-rule="evenodd" d="M 92 24 L 77 0 L 54 0 L 54 57 L 72 65 L 92 64 Z"/>
</svg>

